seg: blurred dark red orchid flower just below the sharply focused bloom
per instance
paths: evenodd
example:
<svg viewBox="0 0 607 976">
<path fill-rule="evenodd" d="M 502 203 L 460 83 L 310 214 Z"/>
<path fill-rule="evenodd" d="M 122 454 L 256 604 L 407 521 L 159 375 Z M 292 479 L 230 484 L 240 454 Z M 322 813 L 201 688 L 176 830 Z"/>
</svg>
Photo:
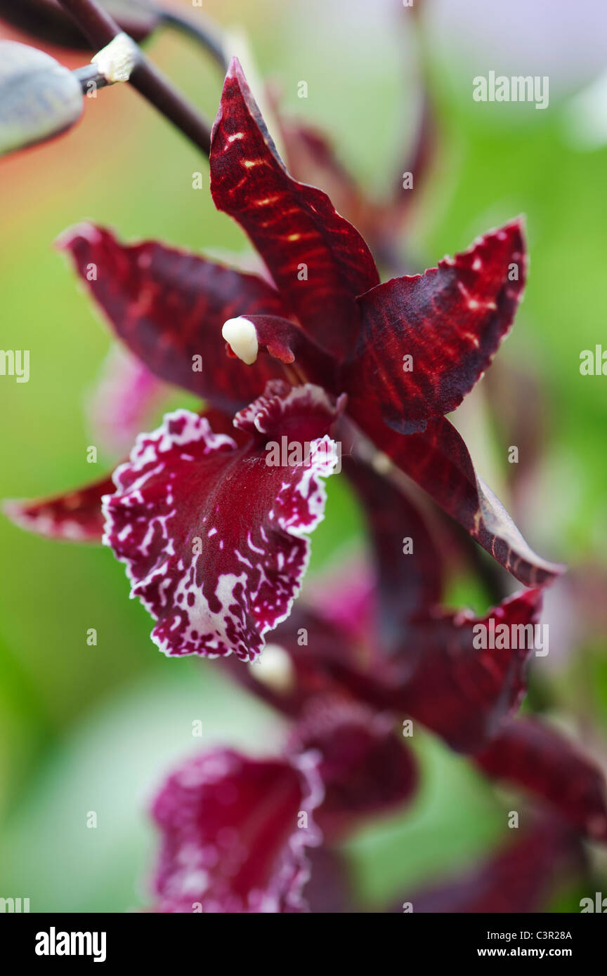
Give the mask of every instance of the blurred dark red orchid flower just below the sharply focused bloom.
<svg viewBox="0 0 607 976">
<path fill-rule="evenodd" d="M 327 696 L 391 716 L 394 725 L 408 720 L 401 750 L 415 742 L 419 722 L 469 756 L 484 775 L 550 808 L 571 830 L 607 841 L 607 790 L 599 765 L 545 722 L 514 717 L 527 688 L 533 641 L 474 646 L 479 625 L 535 632 L 542 590 L 522 590 L 482 618 L 446 611 L 440 603 L 441 563 L 421 512 L 372 469 L 350 464 L 345 470 L 365 503 L 375 586 L 364 580 L 357 589 L 345 580 L 343 592 L 331 595 L 330 615 L 300 600 L 273 632 L 267 658 L 247 669 L 227 660 L 226 671 L 303 728 L 310 714 L 319 728 L 326 725 L 315 703 Z M 415 539 L 411 554 L 399 549 L 403 535 Z M 294 735 L 297 741 L 303 733 Z M 386 788 L 390 770 L 384 755 L 376 771 Z"/>
</svg>

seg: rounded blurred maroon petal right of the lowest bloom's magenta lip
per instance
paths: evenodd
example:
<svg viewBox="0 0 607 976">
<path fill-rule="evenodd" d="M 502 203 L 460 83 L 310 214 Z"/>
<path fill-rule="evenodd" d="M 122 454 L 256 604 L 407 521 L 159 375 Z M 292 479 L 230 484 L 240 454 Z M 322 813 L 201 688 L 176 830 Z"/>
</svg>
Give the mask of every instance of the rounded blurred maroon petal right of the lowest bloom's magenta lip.
<svg viewBox="0 0 607 976">
<path fill-rule="evenodd" d="M 396 738 L 393 716 L 355 702 L 316 698 L 296 726 L 290 750 L 320 754 L 325 796 L 315 819 L 327 838 L 403 805 L 417 789 L 417 764 Z"/>
</svg>

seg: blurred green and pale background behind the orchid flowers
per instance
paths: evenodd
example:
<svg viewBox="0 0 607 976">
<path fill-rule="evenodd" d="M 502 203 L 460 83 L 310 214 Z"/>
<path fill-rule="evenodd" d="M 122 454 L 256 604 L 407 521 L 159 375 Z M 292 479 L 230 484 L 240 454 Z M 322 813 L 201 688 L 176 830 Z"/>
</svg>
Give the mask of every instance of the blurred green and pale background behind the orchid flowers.
<svg viewBox="0 0 607 976">
<path fill-rule="evenodd" d="M 191 4 L 182 6 L 195 18 Z M 483 5 L 426 0 L 417 37 L 411 12 L 388 0 L 258 0 L 255 7 L 234 0 L 205 3 L 205 11 L 238 28 L 234 50 L 242 51 L 246 32 L 259 77 L 278 83 L 286 108 L 331 134 L 371 195 L 385 192 L 399 171 L 427 74 L 440 143 L 413 208 L 407 247 L 416 269 L 526 215 L 530 278 L 501 353 L 502 399 L 483 381 L 460 423 L 480 473 L 507 507 L 505 445 L 512 441 L 500 427 L 500 405 L 523 424 L 529 415 L 533 426 L 537 410 L 518 385 L 521 367 L 539 390 L 543 447 L 533 464 L 526 459 L 533 470 L 516 516 L 536 549 L 574 567 L 575 583 L 558 584 L 548 601 L 553 651 L 542 687 L 550 715 L 604 760 L 607 377 L 582 377 L 580 352 L 601 340 L 607 348 L 607 146 L 588 144 L 578 93 L 607 66 L 596 41 L 605 13 L 598 2 L 585 3 L 576 24 L 564 3 L 507 6 L 505 25 L 495 11 L 483 20 Z M 221 78 L 205 55 L 165 34 L 148 50 L 212 117 Z M 86 60 L 53 53 L 70 66 Z M 549 73 L 547 110 L 473 102 L 471 79 L 488 68 Z M 591 98 L 584 104 L 591 117 Z M 0 496 L 36 497 L 90 480 L 116 460 L 86 461 L 94 441 L 83 403 L 110 339 L 53 251 L 54 238 L 90 219 L 126 238 L 195 250 L 245 252 L 247 244 L 207 189 L 192 189 L 196 171 L 206 186 L 205 160 L 126 86 L 87 102 L 67 137 L 1 165 L 0 345 L 30 349 L 31 376 L 23 385 L 0 378 Z M 190 401 L 178 394 L 175 403 Z M 360 524 L 344 485 L 331 479 L 312 576 L 356 544 Z M 32 912 L 145 904 L 155 849 L 146 806 L 166 772 L 207 744 L 271 751 L 281 723 L 212 662 L 159 654 L 109 550 L 39 539 L 5 518 L 0 546 L 0 896 L 28 897 Z M 452 596 L 486 605 L 483 590 L 466 580 L 455 581 Z M 89 628 L 98 630 L 97 646 L 87 645 Z M 195 719 L 205 728 L 202 741 L 192 739 Z M 429 736 L 417 749 L 424 779 L 414 806 L 348 841 L 369 905 L 469 865 L 504 834 L 503 804 L 463 759 Z M 86 826 L 89 811 L 97 812 L 95 830 Z M 554 908 L 577 904 L 571 899 Z"/>
</svg>

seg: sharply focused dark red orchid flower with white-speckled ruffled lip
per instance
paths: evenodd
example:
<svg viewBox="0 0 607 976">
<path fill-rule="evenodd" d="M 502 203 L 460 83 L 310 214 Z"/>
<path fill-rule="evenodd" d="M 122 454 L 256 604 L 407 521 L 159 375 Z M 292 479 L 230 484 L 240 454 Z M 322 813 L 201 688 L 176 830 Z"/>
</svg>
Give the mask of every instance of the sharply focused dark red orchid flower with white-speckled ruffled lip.
<svg viewBox="0 0 607 976">
<path fill-rule="evenodd" d="M 153 242 L 122 245 L 92 226 L 67 232 L 60 246 L 122 342 L 161 380 L 215 408 L 213 423 L 170 415 L 138 439 L 113 493 L 101 479 L 67 499 L 13 503 L 10 514 L 90 539 L 101 535 L 95 509 L 106 496 L 103 541 L 157 621 L 154 639 L 177 655 L 250 660 L 289 613 L 307 560 L 302 536 L 322 517 L 331 468 L 318 454 L 311 465 L 268 467 L 264 445 L 282 438 L 328 448 L 328 435 L 343 431 L 348 449 L 408 474 L 525 585 L 558 575 L 562 567 L 529 548 L 477 476 L 444 416 L 511 326 L 526 273 L 519 222 L 425 274 L 380 284 L 354 227 L 325 193 L 286 172 L 235 60 L 213 130 L 211 192 L 271 281 Z M 226 439 L 217 411 L 238 410 Z"/>
</svg>

